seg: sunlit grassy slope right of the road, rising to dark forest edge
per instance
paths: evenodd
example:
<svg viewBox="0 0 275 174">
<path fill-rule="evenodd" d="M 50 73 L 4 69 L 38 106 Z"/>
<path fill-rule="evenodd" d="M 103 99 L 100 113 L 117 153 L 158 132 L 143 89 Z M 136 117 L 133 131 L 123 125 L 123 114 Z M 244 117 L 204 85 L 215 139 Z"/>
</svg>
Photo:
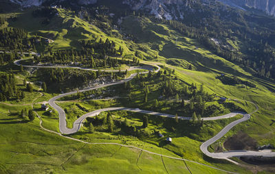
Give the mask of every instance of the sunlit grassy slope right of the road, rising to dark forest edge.
<svg viewBox="0 0 275 174">
<path fill-rule="evenodd" d="M 177 70 L 176 74 L 179 78 L 184 79 L 185 82 L 189 82 L 189 84 L 192 82 L 204 84 L 208 90 L 218 95 L 254 101 L 260 105 L 261 110 L 252 116 L 252 121 L 242 123 L 233 132 L 241 129 L 248 132 L 253 138 L 256 138 L 259 144 L 274 143 L 275 129 L 274 126 L 270 126 L 272 123 L 271 113 L 274 113 L 274 109 L 271 109 L 274 108 L 272 102 L 274 100 L 274 84 L 272 82 L 254 77 L 254 75 L 250 74 L 253 71 L 245 69 L 243 66 L 241 68 L 240 66 L 233 65 L 231 62 L 208 51 L 196 40 L 183 37 L 162 23 L 152 22 L 148 18 L 128 17 L 124 19 L 122 26 L 126 33 L 131 34 L 133 39 L 136 40 L 137 45 L 141 48 L 141 52 L 156 51 L 159 54 L 157 60 L 162 61 L 162 58 L 165 58 L 165 62 L 168 63 L 171 63 L 169 58 L 173 58 L 172 60 L 175 58 L 178 62 L 177 64 L 175 62 L 173 64 L 177 66 L 175 68 Z M 167 45 L 169 47 L 165 49 Z M 184 62 L 180 62 L 181 59 L 184 59 Z M 194 65 L 197 71 L 187 70 L 184 64 Z M 173 69 L 175 66 L 170 67 Z M 235 75 L 241 78 L 243 82 L 252 82 L 256 86 L 245 88 L 243 85 L 234 83 L 224 84 L 224 82 L 217 78 L 222 73 Z M 253 109 L 254 106 L 252 105 L 251 110 Z M 267 135 L 268 138 L 265 138 Z"/>
</svg>

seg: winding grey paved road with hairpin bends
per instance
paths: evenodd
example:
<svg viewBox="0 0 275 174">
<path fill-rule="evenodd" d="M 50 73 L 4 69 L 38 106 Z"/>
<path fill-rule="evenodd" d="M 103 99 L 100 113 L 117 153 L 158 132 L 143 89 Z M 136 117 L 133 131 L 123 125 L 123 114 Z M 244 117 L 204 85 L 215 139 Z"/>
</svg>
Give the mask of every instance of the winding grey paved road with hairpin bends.
<svg viewBox="0 0 275 174">
<path fill-rule="evenodd" d="M 14 61 L 14 64 L 20 65 L 20 61 L 21 60 Z M 22 66 L 25 66 L 25 65 L 22 64 Z M 157 66 L 157 65 L 154 65 L 154 66 L 157 67 L 157 70 L 155 70 L 155 72 L 157 73 L 160 70 L 160 67 Z M 86 70 L 86 71 L 98 71 L 98 70 L 94 70 L 94 69 L 85 69 L 85 68 L 80 68 L 80 67 L 75 67 L 75 66 L 27 66 L 27 67 L 32 67 L 32 68 L 73 68 L 73 69 L 82 69 L 82 70 Z M 144 71 L 140 74 L 148 73 L 148 71 L 153 71 L 152 66 L 140 66 L 140 67 L 135 67 L 134 69 L 147 70 L 147 71 Z M 133 70 L 133 69 L 131 69 L 131 70 Z M 106 71 L 106 72 L 111 72 L 111 70 Z M 113 72 L 118 72 L 118 71 L 114 70 Z M 55 103 L 55 101 L 57 99 L 60 99 L 60 98 L 65 97 L 67 95 L 76 94 L 77 92 L 85 92 L 85 91 L 88 91 L 88 90 L 95 90 L 95 89 L 103 88 L 103 87 L 107 87 L 107 86 L 123 84 L 124 82 L 129 82 L 136 75 L 137 75 L 137 73 L 133 73 L 129 77 L 127 77 L 126 79 L 123 79 L 119 82 L 113 82 L 113 83 L 109 83 L 109 84 L 102 84 L 102 85 L 99 85 L 99 86 L 96 86 L 96 87 L 93 87 L 93 88 L 87 88 L 87 89 L 83 89 L 83 90 L 67 92 L 65 94 L 61 94 L 61 95 L 58 95 L 58 96 L 53 97 L 52 99 L 50 99 L 49 104 L 52 106 L 52 108 L 57 110 L 58 114 L 59 114 L 59 129 L 60 129 L 60 132 L 62 134 L 74 134 L 74 133 L 78 132 L 78 130 L 81 127 L 81 124 L 83 123 L 83 121 L 85 121 L 85 119 L 87 117 L 96 116 L 96 115 L 100 114 L 100 112 L 106 112 L 106 111 L 112 111 L 112 110 L 126 110 L 126 111 L 129 111 L 129 112 L 140 112 L 140 113 L 143 113 L 143 114 L 151 114 L 151 115 L 156 115 L 156 116 L 164 116 L 164 117 L 175 118 L 175 115 L 164 114 L 164 113 L 159 113 L 159 112 L 153 112 L 153 111 L 148 111 L 148 110 L 140 110 L 139 108 L 135 108 L 135 109 L 133 109 L 133 108 L 123 108 L 123 107 L 121 107 L 121 108 L 103 108 L 103 109 L 100 109 L 100 110 L 95 110 L 93 112 L 89 112 L 87 114 L 84 114 L 83 116 L 80 116 L 80 118 L 78 118 L 74 122 L 74 126 L 73 126 L 72 129 L 67 128 L 65 111 Z M 255 108 L 256 108 L 256 110 L 254 110 L 254 112 L 257 112 L 259 110 L 259 108 L 256 104 L 254 104 L 254 105 L 255 105 Z M 252 112 L 250 114 L 253 114 L 254 112 Z M 211 153 L 210 151 L 208 151 L 208 147 L 210 145 L 212 145 L 212 143 L 216 142 L 221 137 L 223 137 L 227 132 L 230 131 L 230 129 L 232 129 L 232 127 L 234 127 L 235 125 L 238 125 L 239 123 L 242 123 L 243 121 L 248 121 L 250 119 L 250 114 L 244 113 L 244 112 L 231 112 L 230 114 L 225 114 L 225 115 L 222 115 L 222 116 L 201 118 L 201 120 L 203 120 L 203 121 L 214 121 L 214 120 L 219 120 L 219 119 L 229 119 L 229 118 L 232 118 L 232 117 L 234 117 L 238 114 L 243 115 L 243 117 L 241 119 L 238 119 L 238 120 L 233 121 L 232 123 L 226 125 L 221 130 L 221 132 L 219 132 L 216 136 L 210 138 L 206 142 L 203 142 L 203 144 L 200 147 L 201 151 L 204 154 L 206 154 L 206 156 L 209 156 L 211 158 L 218 158 L 218 159 L 225 159 L 225 160 L 229 160 L 228 158 L 241 157 L 241 156 L 274 157 L 275 152 L 225 151 L 225 152 L 221 152 L 221 153 Z M 179 119 L 184 119 L 184 120 L 190 120 L 191 119 L 190 117 L 183 117 L 183 116 L 179 116 L 178 118 Z M 230 160 L 230 161 L 234 162 L 232 160 Z"/>
</svg>

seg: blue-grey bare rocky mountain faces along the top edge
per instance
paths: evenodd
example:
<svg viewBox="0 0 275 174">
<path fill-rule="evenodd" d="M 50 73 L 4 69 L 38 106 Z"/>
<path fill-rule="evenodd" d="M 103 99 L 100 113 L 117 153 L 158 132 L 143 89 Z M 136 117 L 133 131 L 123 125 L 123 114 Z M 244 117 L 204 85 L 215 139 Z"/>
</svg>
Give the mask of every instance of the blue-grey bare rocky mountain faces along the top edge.
<svg viewBox="0 0 275 174">
<path fill-rule="evenodd" d="M 10 0 L 13 3 L 17 3 L 23 7 L 31 5 L 39 6 L 49 0 Z M 60 3 L 68 0 L 56 0 L 54 2 Z M 89 5 L 104 0 L 77 0 L 73 1 L 79 5 Z M 214 0 L 116 0 L 118 3 L 124 3 L 130 6 L 132 10 L 147 10 L 157 18 L 166 18 L 168 20 L 172 18 L 184 18 L 184 10 L 190 6 L 191 3 L 203 3 L 204 5 L 209 3 L 217 3 Z M 234 8 L 241 10 L 254 8 L 262 10 L 267 14 L 275 16 L 275 0 L 217 0 L 226 5 L 230 5 Z M 52 2 L 52 1 L 51 1 Z M 54 3 L 52 3 L 54 4 Z"/>
</svg>

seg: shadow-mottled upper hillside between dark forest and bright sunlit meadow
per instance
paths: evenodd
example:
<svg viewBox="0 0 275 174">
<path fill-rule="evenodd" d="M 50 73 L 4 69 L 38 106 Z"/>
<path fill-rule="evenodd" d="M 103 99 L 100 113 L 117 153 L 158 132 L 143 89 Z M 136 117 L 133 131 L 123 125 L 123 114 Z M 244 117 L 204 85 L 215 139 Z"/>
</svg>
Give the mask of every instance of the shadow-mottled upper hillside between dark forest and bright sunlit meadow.
<svg viewBox="0 0 275 174">
<path fill-rule="evenodd" d="M 153 52 L 156 54 L 155 58 L 159 55 L 159 58 L 166 58 L 166 61 L 168 59 L 186 60 L 186 66 L 189 63 L 201 71 L 217 69 L 232 73 L 236 70 L 249 75 L 239 66 L 208 51 L 197 40 L 183 36 L 166 24 L 149 18 L 126 17 L 122 27 L 136 40 L 137 49 L 142 53 Z"/>
</svg>

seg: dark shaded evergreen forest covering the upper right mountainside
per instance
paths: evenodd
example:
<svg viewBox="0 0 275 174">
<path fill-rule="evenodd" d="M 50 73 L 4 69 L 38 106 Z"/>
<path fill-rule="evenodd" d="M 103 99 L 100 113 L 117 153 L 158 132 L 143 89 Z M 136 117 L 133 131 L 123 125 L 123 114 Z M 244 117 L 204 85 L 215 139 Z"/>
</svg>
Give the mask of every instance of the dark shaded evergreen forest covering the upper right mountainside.
<svg viewBox="0 0 275 174">
<path fill-rule="evenodd" d="M 151 19 L 199 40 L 203 46 L 226 60 L 249 66 L 258 75 L 275 78 L 274 19 L 256 15 L 252 17 L 251 14 L 224 8 L 218 3 L 202 5 L 200 1 L 192 1 L 188 4 L 192 10 L 182 9 L 185 14 L 183 20 Z M 210 38 L 216 38 L 221 43 L 216 45 Z M 227 40 L 240 41 L 241 49 L 235 49 Z"/>
</svg>

